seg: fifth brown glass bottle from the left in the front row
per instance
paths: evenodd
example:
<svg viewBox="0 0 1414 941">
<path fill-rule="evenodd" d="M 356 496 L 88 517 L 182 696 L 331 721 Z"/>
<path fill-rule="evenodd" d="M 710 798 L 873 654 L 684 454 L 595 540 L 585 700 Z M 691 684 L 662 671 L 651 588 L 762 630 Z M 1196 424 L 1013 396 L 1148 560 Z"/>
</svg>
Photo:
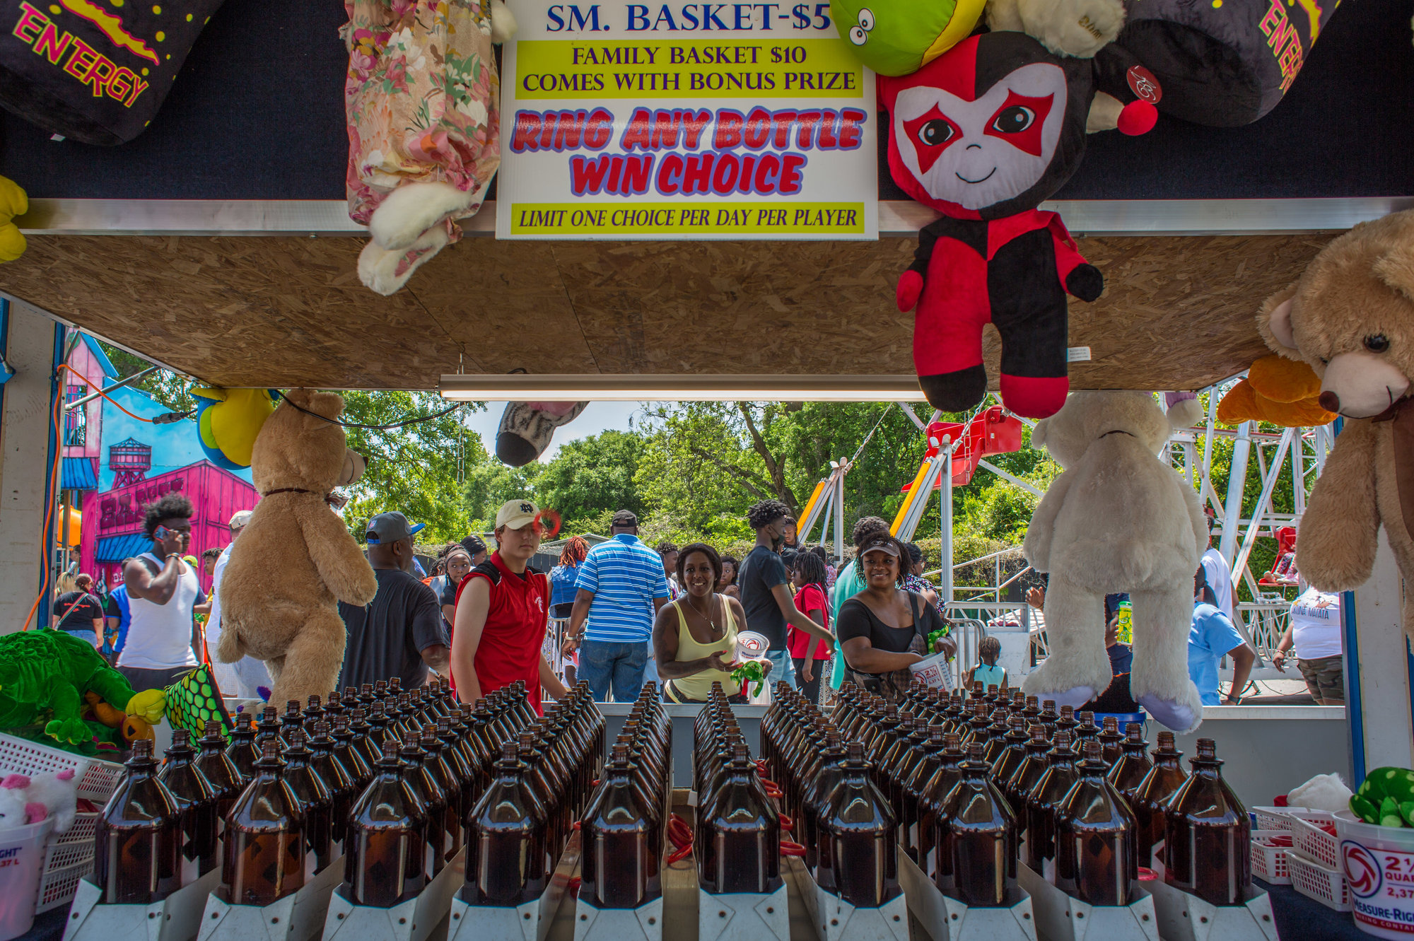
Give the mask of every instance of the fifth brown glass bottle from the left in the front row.
<svg viewBox="0 0 1414 941">
<path fill-rule="evenodd" d="M 633 783 L 628 747 L 614 746 L 581 824 L 580 900 L 595 909 L 636 909 L 659 883 L 660 846 L 649 810 Z"/>
</svg>

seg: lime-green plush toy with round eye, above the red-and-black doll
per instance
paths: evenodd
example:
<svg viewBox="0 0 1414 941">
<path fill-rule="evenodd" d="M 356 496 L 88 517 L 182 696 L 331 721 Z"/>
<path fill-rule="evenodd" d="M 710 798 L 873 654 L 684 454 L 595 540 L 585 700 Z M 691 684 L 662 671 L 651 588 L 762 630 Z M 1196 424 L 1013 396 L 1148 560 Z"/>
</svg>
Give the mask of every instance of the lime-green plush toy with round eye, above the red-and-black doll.
<svg viewBox="0 0 1414 941">
<path fill-rule="evenodd" d="M 912 75 L 971 35 L 983 0 L 831 0 L 840 35 L 880 75 Z"/>
</svg>

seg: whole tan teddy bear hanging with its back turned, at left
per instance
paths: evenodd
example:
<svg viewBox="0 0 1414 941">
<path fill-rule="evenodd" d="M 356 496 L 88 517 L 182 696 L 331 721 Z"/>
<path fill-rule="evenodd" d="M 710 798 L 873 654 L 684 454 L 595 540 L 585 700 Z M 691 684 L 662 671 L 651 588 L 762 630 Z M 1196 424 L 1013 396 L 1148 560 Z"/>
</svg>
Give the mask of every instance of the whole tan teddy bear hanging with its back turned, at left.
<svg viewBox="0 0 1414 941">
<path fill-rule="evenodd" d="M 260 502 L 221 582 L 216 658 L 263 660 L 274 680 L 271 702 L 335 687 L 345 637 L 338 602 L 366 605 L 378 592 L 363 551 L 325 499 L 363 472 L 335 422 L 342 411 L 334 393 L 291 390 L 250 456 Z"/>
</svg>

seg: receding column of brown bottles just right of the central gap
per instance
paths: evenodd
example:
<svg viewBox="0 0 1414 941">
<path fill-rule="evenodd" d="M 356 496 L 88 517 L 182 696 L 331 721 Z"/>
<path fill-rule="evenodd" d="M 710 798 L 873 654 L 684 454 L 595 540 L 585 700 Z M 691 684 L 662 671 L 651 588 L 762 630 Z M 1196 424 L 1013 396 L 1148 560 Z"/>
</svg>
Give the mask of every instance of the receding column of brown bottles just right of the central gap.
<svg viewBox="0 0 1414 941">
<path fill-rule="evenodd" d="M 781 811 L 766 793 L 720 682 L 693 726 L 697 880 L 710 893 L 781 887 Z"/>
</svg>

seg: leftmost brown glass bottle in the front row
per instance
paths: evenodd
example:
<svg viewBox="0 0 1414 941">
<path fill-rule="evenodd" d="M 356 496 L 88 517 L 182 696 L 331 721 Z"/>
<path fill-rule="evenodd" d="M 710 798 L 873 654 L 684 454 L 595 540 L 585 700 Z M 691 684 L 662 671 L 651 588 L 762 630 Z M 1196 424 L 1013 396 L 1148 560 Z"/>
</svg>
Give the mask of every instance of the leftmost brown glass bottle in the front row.
<svg viewBox="0 0 1414 941">
<path fill-rule="evenodd" d="M 181 805 L 157 780 L 150 739 L 133 742 L 127 776 L 95 828 L 93 882 L 109 904 L 147 906 L 181 889 Z"/>
</svg>

